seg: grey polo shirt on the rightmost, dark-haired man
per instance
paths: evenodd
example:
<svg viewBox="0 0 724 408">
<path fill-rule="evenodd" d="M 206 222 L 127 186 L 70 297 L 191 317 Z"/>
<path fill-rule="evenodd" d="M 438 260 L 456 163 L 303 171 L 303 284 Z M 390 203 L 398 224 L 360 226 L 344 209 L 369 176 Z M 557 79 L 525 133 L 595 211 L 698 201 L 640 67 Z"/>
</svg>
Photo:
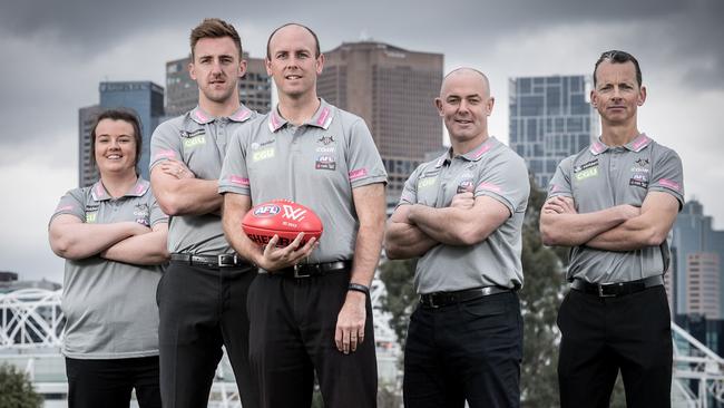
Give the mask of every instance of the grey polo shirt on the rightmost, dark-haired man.
<svg viewBox="0 0 724 408">
<path fill-rule="evenodd" d="M 684 174 L 676 152 L 645 134 L 617 147 L 596 140 L 565 158 L 548 186 L 548 197 L 573 197 L 578 213 L 620 204 L 640 207 L 649 192 L 666 192 L 684 205 Z M 628 282 L 665 272 L 668 241 L 636 251 L 601 251 L 585 245 L 570 251 L 567 279 L 594 283 Z"/>
</svg>

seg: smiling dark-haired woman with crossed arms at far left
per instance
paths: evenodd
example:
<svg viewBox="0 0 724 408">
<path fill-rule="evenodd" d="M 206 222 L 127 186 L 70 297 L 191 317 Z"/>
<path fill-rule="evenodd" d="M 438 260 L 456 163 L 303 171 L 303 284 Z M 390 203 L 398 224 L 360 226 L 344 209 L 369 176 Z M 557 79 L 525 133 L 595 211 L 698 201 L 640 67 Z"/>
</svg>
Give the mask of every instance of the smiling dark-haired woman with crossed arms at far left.
<svg viewBox="0 0 724 408">
<path fill-rule="evenodd" d="M 71 408 L 160 408 L 156 285 L 168 260 L 168 217 L 138 176 L 140 123 L 101 113 L 90 132 L 92 186 L 69 191 L 49 225 L 66 259 L 62 354 Z"/>
</svg>

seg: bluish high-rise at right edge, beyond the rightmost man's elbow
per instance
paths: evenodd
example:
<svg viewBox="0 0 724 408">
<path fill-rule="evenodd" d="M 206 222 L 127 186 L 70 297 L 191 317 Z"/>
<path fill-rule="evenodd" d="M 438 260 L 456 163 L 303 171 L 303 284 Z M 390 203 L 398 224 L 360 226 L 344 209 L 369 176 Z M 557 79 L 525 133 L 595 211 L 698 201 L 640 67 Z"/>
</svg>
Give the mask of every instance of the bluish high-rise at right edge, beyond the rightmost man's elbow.
<svg viewBox="0 0 724 408">
<path fill-rule="evenodd" d="M 718 315 L 724 317 L 724 231 L 714 230 L 712 222 L 711 216 L 704 215 L 702 204 L 692 200 L 684 204 L 674 223 L 672 269 L 675 286 L 673 309 L 676 314 L 702 313 L 699 309 L 691 309 L 692 304 L 698 304 L 698 308 L 703 304 L 703 293 L 692 281 L 703 273 L 707 276 L 715 273 Z M 697 302 L 694 302 L 694 298 Z"/>
</svg>

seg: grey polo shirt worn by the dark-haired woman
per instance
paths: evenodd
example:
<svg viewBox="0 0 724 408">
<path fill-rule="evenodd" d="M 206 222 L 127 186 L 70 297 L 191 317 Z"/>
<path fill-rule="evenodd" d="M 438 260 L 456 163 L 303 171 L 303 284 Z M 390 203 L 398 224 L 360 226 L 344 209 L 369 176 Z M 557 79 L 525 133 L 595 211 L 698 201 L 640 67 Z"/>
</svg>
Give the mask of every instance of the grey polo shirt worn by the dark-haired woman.
<svg viewBox="0 0 724 408">
<path fill-rule="evenodd" d="M 168 221 L 139 178 L 126 195 L 112 198 L 100 182 L 71 190 L 51 221 L 71 214 L 88 224 L 135 221 L 146 226 Z M 98 255 L 66 260 L 62 353 L 77 359 L 119 359 L 158 354 L 156 286 L 160 265 L 131 265 Z"/>
</svg>

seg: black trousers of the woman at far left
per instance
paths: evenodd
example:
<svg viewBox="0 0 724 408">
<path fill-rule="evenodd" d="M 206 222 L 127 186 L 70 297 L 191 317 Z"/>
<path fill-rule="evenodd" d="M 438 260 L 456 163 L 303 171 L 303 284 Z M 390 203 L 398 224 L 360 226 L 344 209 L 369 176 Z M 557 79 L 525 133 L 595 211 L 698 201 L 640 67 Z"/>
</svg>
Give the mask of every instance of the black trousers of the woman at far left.
<svg viewBox="0 0 724 408">
<path fill-rule="evenodd" d="M 69 408 L 128 408 L 134 388 L 140 408 L 160 408 L 158 357 L 66 358 L 66 375 Z"/>
</svg>

